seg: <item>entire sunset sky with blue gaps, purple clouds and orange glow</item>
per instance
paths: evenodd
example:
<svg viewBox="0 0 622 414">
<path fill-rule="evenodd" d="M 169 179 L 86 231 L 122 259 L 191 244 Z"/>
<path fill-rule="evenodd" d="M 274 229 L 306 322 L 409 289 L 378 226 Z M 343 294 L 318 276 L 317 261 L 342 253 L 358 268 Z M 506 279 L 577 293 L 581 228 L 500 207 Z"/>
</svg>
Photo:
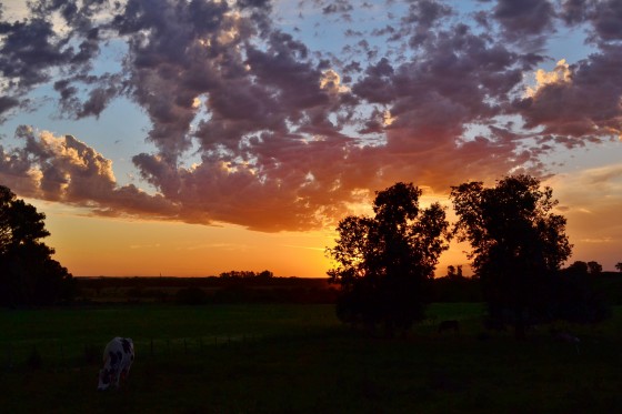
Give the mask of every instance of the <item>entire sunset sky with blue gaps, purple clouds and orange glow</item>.
<svg viewBox="0 0 622 414">
<path fill-rule="evenodd" d="M 619 0 L 0 4 L 0 184 L 73 275 L 323 277 L 375 191 L 515 173 L 622 262 Z"/>
</svg>

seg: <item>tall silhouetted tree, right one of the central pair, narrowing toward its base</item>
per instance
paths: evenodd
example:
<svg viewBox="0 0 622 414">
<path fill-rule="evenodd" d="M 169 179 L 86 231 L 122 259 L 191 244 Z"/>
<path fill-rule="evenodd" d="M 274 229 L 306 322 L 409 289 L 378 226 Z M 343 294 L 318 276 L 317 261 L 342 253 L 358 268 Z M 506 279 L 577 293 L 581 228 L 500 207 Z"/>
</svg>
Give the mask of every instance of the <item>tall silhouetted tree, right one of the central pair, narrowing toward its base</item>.
<svg viewBox="0 0 622 414">
<path fill-rule="evenodd" d="M 571 254 L 565 218 L 552 212 L 552 190 L 511 175 L 494 188 L 452 186 L 450 196 L 459 216 L 454 233 L 471 243 L 489 316 L 523 339 L 526 325 L 548 313 L 551 276 Z"/>
</svg>

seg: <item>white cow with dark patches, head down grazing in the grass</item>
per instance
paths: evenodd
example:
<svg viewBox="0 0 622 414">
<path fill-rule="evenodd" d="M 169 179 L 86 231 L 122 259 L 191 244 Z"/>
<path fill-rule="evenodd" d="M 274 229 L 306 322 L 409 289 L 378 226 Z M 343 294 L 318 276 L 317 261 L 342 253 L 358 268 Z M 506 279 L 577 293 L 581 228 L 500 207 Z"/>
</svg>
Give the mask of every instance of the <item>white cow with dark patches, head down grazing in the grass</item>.
<svg viewBox="0 0 622 414">
<path fill-rule="evenodd" d="M 103 350 L 103 368 L 99 372 L 98 390 L 107 390 L 111 384 L 119 387 L 119 380 L 126 378 L 134 361 L 134 344 L 129 337 L 116 337 Z"/>
</svg>

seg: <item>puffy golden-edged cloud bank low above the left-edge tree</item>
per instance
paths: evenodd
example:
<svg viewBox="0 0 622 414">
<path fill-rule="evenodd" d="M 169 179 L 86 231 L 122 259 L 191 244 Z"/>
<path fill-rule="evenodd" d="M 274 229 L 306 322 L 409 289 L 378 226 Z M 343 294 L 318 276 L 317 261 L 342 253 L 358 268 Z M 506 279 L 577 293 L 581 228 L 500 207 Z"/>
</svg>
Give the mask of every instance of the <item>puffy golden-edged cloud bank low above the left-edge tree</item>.
<svg viewBox="0 0 622 414">
<path fill-rule="evenodd" d="M 107 216 L 134 215 L 175 219 L 178 208 L 163 196 L 134 185 L 119 186 L 112 162 L 74 137 L 36 133 L 20 127 L 23 145 L 0 148 L 0 180 L 23 196 L 92 209 Z"/>
</svg>

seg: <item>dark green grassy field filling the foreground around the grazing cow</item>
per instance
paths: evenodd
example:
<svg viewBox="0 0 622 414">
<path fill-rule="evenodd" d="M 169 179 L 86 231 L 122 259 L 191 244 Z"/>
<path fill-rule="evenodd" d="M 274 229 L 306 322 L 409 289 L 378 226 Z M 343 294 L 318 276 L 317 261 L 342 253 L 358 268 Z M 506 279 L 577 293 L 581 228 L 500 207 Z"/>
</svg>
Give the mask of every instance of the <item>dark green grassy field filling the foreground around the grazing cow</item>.
<svg viewBox="0 0 622 414">
<path fill-rule="evenodd" d="M 104 306 L 0 312 L 2 413 L 622 412 L 622 309 L 579 349 L 516 343 L 479 304 L 437 304 L 403 340 L 365 339 L 331 305 Z M 97 392 L 107 341 L 134 340 L 119 391 Z"/>
</svg>

